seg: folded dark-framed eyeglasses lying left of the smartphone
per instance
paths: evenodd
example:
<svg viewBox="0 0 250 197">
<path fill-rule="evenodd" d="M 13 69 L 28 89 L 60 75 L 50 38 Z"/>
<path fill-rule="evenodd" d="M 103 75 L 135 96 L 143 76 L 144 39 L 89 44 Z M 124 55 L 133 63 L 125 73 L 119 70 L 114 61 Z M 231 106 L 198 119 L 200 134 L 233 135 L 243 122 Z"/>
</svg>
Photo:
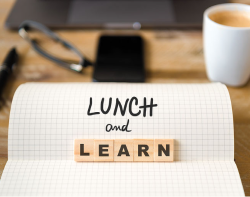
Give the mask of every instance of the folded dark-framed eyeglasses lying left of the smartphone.
<svg viewBox="0 0 250 197">
<path fill-rule="evenodd" d="M 50 54 L 49 52 L 45 51 L 40 45 L 39 43 L 36 41 L 36 39 L 31 38 L 31 36 L 29 35 L 30 31 L 32 30 L 36 30 L 39 31 L 42 34 L 45 34 L 46 36 L 48 36 L 49 38 L 51 38 L 53 41 L 61 44 L 63 47 L 65 47 L 66 49 L 70 50 L 71 52 L 73 52 L 75 55 L 78 56 L 79 58 L 79 62 L 78 63 L 72 63 L 66 60 L 63 60 L 61 58 L 58 58 L 52 54 Z M 35 22 L 35 21 L 24 21 L 18 30 L 19 35 L 25 39 L 26 41 L 28 41 L 30 43 L 30 45 L 33 47 L 33 49 L 39 53 L 40 55 L 42 55 L 43 57 L 57 63 L 58 65 L 67 68 L 69 70 L 81 73 L 83 71 L 83 68 L 92 65 L 92 63 L 90 61 L 88 61 L 83 55 L 82 53 L 76 48 L 74 47 L 72 44 L 68 43 L 67 41 L 63 40 L 62 38 L 60 38 L 56 33 L 54 33 L 53 31 L 51 31 L 50 29 L 48 29 L 46 26 L 44 26 L 41 23 Z"/>
</svg>

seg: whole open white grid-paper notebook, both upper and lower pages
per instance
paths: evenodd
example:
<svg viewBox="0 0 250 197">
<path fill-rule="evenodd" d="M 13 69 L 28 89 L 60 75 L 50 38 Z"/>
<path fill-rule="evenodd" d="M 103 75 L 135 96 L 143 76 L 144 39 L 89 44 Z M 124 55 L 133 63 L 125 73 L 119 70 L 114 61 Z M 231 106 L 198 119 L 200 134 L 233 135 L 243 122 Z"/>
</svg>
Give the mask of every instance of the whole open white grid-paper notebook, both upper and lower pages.
<svg viewBox="0 0 250 197">
<path fill-rule="evenodd" d="M 153 98 L 131 116 L 101 99 Z M 107 132 L 107 124 L 131 132 Z M 74 139 L 175 139 L 174 162 L 75 162 Z M 0 195 L 244 196 L 234 162 L 230 97 L 222 84 L 27 83 L 15 93 Z"/>
</svg>

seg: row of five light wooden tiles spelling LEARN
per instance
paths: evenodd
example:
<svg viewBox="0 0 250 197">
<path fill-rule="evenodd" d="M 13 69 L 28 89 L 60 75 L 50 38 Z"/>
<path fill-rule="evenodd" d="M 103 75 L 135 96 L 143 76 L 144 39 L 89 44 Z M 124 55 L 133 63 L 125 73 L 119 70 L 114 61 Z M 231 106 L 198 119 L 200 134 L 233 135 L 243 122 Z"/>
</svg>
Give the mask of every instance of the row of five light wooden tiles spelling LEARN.
<svg viewBox="0 0 250 197">
<path fill-rule="evenodd" d="M 173 161 L 173 139 L 76 139 L 75 161 Z"/>
</svg>

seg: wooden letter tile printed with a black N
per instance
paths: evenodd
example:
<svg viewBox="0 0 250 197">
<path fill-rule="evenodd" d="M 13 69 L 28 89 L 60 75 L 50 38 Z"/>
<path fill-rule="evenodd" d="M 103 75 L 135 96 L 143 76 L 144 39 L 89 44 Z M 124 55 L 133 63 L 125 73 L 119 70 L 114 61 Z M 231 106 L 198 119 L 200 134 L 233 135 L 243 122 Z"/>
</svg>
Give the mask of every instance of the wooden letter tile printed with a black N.
<svg viewBox="0 0 250 197">
<path fill-rule="evenodd" d="M 155 161 L 174 161 L 174 140 L 155 139 Z"/>
</svg>

